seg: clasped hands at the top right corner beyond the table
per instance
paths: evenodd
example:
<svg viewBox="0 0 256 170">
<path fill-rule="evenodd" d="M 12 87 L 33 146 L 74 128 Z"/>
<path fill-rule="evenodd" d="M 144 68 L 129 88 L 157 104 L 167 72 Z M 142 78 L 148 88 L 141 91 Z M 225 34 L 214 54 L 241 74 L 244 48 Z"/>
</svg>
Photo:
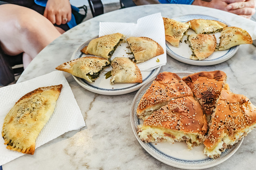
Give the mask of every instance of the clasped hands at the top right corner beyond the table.
<svg viewBox="0 0 256 170">
<path fill-rule="evenodd" d="M 231 1 L 232 0 L 230 0 L 230 2 Z M 227 10 L 228 12 L 250 19 L 255 13 L 255 7 L 256 0 L 246 0 L 244 2 L 237 2 L 236 0 L 233 0 L 233 2 L 227 6 Z"/>
</svg>

